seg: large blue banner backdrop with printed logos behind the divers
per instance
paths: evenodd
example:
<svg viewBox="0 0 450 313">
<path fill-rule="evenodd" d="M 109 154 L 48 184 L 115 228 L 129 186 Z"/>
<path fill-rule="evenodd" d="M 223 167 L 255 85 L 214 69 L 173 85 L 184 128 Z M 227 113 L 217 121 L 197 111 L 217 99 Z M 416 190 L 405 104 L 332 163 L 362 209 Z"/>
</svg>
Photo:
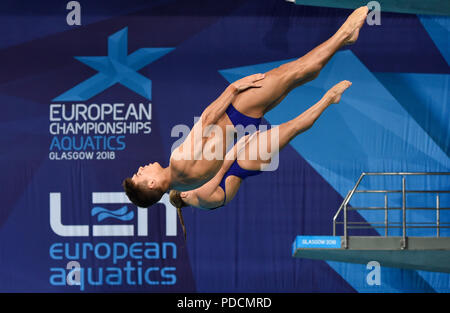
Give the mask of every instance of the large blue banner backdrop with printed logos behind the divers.
<svg viewBox="0 0 450 313">
<path fill-rule="evenodd" d="M 137 208 L 122 179 L 150 161 L 167 165 L 175 125 L 192 126 L 232 81 L 307 53 L 350 10 L 80 2 L 80 26 L 67 25 L 61 1 L 0 4 L 0 291 L 450 291 L 449 274 L 382 268 L 382 284 L 369 286 L 365 265 L 291 255 L 297 235 L 331 235 L 362 171 L 450 170 L 448 18 L 383 12 L 381 25 L 365 25 L 266 120 L 287 121 L 351 80 L 341 103 L 229 205 L 185 210 L 185 243 L 167 196 Z"/>
</svg>

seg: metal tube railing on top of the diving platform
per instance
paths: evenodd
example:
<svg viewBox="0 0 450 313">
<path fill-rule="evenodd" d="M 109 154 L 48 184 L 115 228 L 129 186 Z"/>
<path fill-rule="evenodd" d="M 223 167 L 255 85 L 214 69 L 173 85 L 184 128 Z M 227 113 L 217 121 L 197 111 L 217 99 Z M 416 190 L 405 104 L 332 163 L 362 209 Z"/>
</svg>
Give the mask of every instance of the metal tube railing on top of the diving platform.
<svg viewBox="0 0 450 313">
<path fill-rule="evenodd" d="M 366 176 L 402 176 L 402 188 L 401 190 L 357 190 L 361 181 Z M 406 249 L 407 247 L 407 236 L 406 230 L 408 228 L 435 228 L 436 237 L 440 236 L 440 230 L 442 228 L 450 228 L 450 223 L 442 223 L 440 221 L 440 211 L 450 210 L 450 208 L 440 207 L 439 195 L 442 193 L 450 193 L 450 190 L 406 190 L 406 176 L 410 175 L 450 175 L 450 172 L 423 172 L 423 173 L 412 173 L 412 172 L 398 172 L 398 173 L 362 173 L 356 182 L 355 186 L 347 193 L 339 207 L 338 211 L 333 217 L 333 236 L 336 236 L 336 225 L 344 225 L 344 240 L 343 247 L 347 249 L 348 247 L 348 230 L 349 229 L 376 229 L 384 228 L 385 236 L 388 236 L 388 229 L 390 228 L 401 228 L 402 229 L 402 239 L 401 248 Z M 384 206 L 383 207 L 349 207 L 348 203 L 355 193 L 384 193 Z M 402 206 L 401 207 L 388 207 L 388 194 L 389 193 L 401 193 L 402 194 Z M 436 194 L 436 207 L 406 207 L 406 194 L 408 193 L 424 193 L 424 194 Z M 384 210 L 384 221 L 383 222 L 349 222 L 347 218 L 347 213 L 350 210 Z M 402 221 L 400 222 L 389 222 L 388 212 L 390 210 L 401 210 L 402 211 Z M 406 212 L 407 210 L 436 210 L 436 222 L 422 222 L 422 223 L 407 223 L 406 222 Z M 344 221 L 338 222 L 337 219 L 339 214 L 343 211 Z M 358 226 L 349 226 L 358 225 Z M 379 225 L 379 226 L 376 226 Z"/>
</svg>

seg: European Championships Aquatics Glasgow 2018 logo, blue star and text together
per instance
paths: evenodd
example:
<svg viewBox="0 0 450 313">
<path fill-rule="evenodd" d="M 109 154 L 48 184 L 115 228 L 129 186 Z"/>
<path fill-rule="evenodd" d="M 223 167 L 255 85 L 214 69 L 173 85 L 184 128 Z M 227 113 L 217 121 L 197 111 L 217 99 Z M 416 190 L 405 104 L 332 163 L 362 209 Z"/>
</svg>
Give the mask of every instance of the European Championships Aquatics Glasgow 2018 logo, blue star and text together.
<svg viewBox="0 0 450 313">
<path fill-rule="evenodd" d="M 49 107 L 49 159 L 115 160 L 130 136 L 151 133 L 152 81 L 138 70 L 174 48 L 141 48 L 128 54 L 128 28 L 108 37 L 106 56 L 75 59 L 98 73 L 52 100 Z M 70 77 L 68 73 L 68 77 Z M 113 85 L 133 91 L 127 101 L 83 103 Z M 136 98 L 136 95 L 138 97 Z"/>
</svg>

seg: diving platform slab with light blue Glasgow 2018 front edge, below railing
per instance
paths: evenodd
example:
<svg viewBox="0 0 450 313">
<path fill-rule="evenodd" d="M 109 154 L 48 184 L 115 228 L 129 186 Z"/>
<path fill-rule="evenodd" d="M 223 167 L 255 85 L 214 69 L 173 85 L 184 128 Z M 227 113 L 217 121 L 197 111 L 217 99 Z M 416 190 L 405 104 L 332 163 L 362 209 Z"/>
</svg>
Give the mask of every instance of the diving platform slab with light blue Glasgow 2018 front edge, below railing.
<svg viewBox="0 0 450 313">
<path fill-rule="evenodd" d="M 381 266 L 450 273 L 450 237 L 349 236 L 347 248 L 341 236 L 297 236 L 292 256 L 326 261 L 367 264 L 377 261 Z"/>
</svg>

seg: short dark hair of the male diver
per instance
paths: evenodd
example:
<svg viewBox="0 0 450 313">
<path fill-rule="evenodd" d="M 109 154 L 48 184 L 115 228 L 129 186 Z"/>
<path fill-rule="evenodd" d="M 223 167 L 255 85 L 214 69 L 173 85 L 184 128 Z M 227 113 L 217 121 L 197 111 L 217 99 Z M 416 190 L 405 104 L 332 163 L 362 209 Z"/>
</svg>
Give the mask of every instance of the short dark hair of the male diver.
<svg viewBox="0 0 450 313">
<path fill-rule="evenodd" d="M 161 189 L 147 188 L 145 183 L 135 184 L 130 177 L 123 180 L 122 186 L 128 199 L 141 208 L 147 208 L 155 204 L 164 195 L 164 191 Z"/>
</svg>

